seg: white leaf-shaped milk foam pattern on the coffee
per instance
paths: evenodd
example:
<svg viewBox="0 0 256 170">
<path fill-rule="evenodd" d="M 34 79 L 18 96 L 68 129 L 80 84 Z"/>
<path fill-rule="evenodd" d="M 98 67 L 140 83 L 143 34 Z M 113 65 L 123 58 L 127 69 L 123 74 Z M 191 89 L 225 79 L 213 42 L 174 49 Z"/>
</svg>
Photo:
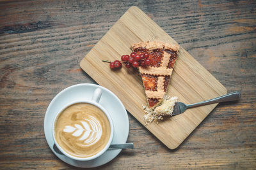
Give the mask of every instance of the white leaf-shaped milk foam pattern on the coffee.
<svg viewBox="0 0 256 170">
<path fill-rule="evenodd" d="M 102 136 L 102 127 L 99 120 L 92 116 L 88 117 L 88 119 L 85 119 L 86 122 L 81 121 L 83 127 L 79 124 L 75 124 L 75 127 L 66 125 L 65 129 L 63 129 L 63 132 L 74 132 L 72 133 L 72 136 L 78 137 L 83 134 L 79 140 L 84 141 L 84 146 L 90 146 L 97 143 Z"/>
</svg>

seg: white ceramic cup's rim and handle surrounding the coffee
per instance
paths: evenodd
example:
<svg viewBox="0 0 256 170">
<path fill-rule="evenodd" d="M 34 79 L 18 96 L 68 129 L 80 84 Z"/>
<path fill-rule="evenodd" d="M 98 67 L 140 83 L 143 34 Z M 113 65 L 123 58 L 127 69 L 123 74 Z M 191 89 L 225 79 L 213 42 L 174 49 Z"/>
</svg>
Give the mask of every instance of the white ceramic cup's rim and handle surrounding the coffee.
<svg viewBox="0 0 256 170">
<path fill-rule="evenodd" d="M 58 114 L 56 115 L 56 117 L 54 117 L 54 121 L 53 121 L 53 124 L 52 124 L 52 138 L 54 139 L 54 143 L 55 145 L 57 146 L 57 148 L 60 150 L 61 153 L 63 153 L 64 155 L 66 155 L 67 157 L 69 157 L 70 159 L 74 159 L 74 160 L 82 160 L 82 161 L 85 161 L 85 160 L 92 160 L 92 159 L 96 159 L 97 157 L 99 157 L 100 155 L 102 155 L 104 152 L 106 152 L 106 150 L 108 150 L 112 140 L 113 140 L 113 134 L 114 134 L 114 127 L 113 127 L 113 121 L 108 113 L 108 111 L 103 108 L 100 104 L 99 104 L 99 101 L 100 101 L 100 97 L 102 95 L 102 90 L 97 88 L 95 89 L 95 91 L 93 92 L 93 96 L 92 96 L 92 99 L 91 100 L 79 100 L 79 101 L 74 101 L 72 103 L 68 103 L 67 105 L 63 106 L 63 109 L 61 109 Z M 60 113 L 65 110 L 66 108 L 68 108 L 68 106 L 71 106 L 72 104 L 76 104 L 76 103 L 88 103 L 88 104 L 93 104 L 94 106 L 97 106 L 97 108 L 99 108 L 100 110 L 102 110 L 106 117 L 108 117 L 108 121 L 109 121 L 109 125 L 110 125 L 110 136 L 109 136 L 109 140 L 108 140 L 108 143 L 106 144 L 106 146 L 100 150 L 100 152 L 96 153 L 95 155 L 93 155 L 92 157 L 84 157 L 84 158 L 81 158 L 81 157 L 74 157 L 73 155 L 70 155 L 68 154 L 67 152 L 65 152 L 65 150 L 63 150 L 63 148 L 61 148 L 60 145 L 58 145 L 57 141 L 56 141 L 56 138 L 55 138 L 55 122 L 58 118 L 58 116 L 60 115 Z"/>
</svg>

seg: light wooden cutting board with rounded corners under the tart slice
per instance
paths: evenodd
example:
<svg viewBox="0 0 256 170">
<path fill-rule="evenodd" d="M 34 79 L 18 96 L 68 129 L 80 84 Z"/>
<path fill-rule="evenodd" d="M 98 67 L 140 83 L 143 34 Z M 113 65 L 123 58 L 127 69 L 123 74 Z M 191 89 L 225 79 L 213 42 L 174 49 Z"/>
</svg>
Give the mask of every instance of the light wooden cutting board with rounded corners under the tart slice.
<svg viewBox="0 0 256 170">
<path fill-rule="evenodd" d="M 131 53 L 132 43 L 155 39 L 177 43 L 143 11 L 132 6 L 80 62 L 81 68 L 99 85 L 114 92 L 143 125 L 141 104 L 146 105 L 147 99 L 138 71 L 126 67 L 112 71 L 109 64 L 102 60 L 120 60 L 121 55 Z M 182 47 L 167 91 L 169 96 L 177 96 L 179 101 L 188 104 L 227 94 L 227 89 Z M 145 127 L 168 148 L 175 149 L 216 105 L 191 108 L 164 122 L 153 122 Z"/>
</svg>

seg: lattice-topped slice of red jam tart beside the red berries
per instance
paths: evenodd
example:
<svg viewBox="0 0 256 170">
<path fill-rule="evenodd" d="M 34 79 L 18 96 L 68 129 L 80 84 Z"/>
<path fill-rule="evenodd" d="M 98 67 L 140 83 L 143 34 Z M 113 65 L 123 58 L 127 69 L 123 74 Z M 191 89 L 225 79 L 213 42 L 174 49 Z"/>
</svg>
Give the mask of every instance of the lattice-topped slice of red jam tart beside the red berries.
<svg viewBox="0 0 256 170">
<path fill-rule="evenodd" d="M 178 45 L 146 41 L 132 45 L 136 53 L 148 53 L 151 64 L 139 66 L 149 108 L 156 108 L 164 99 L 179 50 Z"/>
</svg>

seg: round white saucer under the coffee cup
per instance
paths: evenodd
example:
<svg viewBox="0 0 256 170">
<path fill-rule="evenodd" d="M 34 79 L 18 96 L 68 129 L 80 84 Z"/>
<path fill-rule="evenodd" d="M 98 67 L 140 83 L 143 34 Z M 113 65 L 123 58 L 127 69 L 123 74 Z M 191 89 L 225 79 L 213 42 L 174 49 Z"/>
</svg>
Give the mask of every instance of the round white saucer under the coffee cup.
<svg viewBox="0 0 256 170">
<path fill-rule="evenodd" d="M 54 99 L 52 99 L 49 104 L 44 118 L 44 133 L 45 138 L 50 146 L 51 150 L 57 157 L 61 160 L 76 167 L 97 167 L 108 163 L 110 160 L 114 159 L 121 149 L 111 149 L 107 150 L 103 155 L 94 160 L 89 161 L 79 161 L 73 160 L 65 155 L 60 155 L 53 150 L 54 141 L 52 138 L 52 121 L 57 111 L 61 109 L 62 106 L 68 104 L 72 101 L 88 99 L 90 100 L 95 89 L 102 89 L 102 96 L 100 97 L 99 104 L 102 105 L 108 113 L 111 115 L 114 125 L 114 136 L 111 144 L 126 143 L 129 134 L 129 118 L 124 105 L 118 99 L 118 97 L 113 94 L 110 90 L 94 84 L 77 84 L 62 90 L 57 94 Z"/>
</svg>

